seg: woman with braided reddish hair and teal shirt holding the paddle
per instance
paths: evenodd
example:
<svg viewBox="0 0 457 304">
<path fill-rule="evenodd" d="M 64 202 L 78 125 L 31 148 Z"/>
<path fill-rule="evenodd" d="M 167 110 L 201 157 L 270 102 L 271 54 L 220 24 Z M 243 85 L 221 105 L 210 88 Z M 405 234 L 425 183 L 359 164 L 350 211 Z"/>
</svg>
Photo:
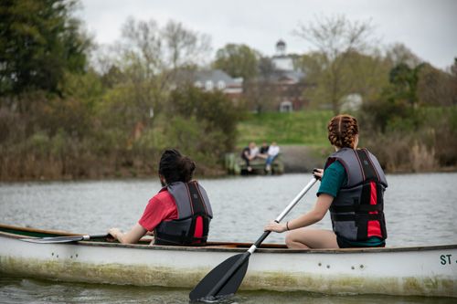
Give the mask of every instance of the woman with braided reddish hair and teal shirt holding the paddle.
<svg viewBox="0 0 457 304">
<path fill-rule="evenodd" d="M 357 149 L 358 125 L 354 117 L 335 116 L 327 129 L 335 153 L 328 157 L 324 171 L 314 170 L 314 175 L 322 178 L 314 208 L 285 224 L 271 222 L 265 230 L 290 230 L 285 239 L 290 248 L 385 246 L 386 176 L 372 153 Z M 319 222 L 329 209 L 333 231 L 303 228 Z"/>
</svg>

